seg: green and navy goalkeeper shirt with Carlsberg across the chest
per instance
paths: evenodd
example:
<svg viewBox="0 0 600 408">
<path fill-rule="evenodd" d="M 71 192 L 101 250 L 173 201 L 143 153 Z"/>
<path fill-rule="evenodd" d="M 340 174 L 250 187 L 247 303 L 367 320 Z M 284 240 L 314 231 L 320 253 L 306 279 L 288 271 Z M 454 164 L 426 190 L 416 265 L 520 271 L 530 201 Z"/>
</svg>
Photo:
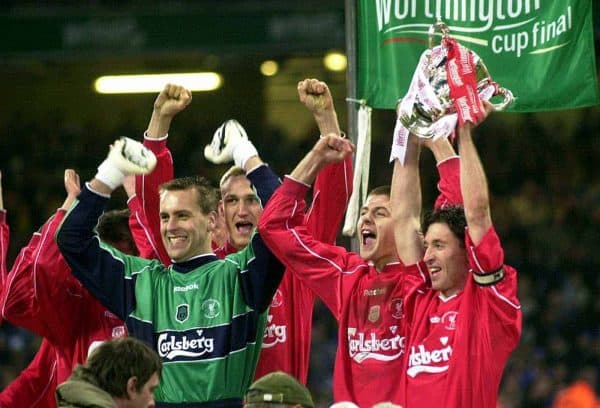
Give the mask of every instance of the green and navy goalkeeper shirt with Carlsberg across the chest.
<svg viewBox="0 0 600 408">
<path fill-rule="evenodd" d="M 125 255 L 93 235 L 105 202 L 84 189 L 57 243 L 73 274 L 161 356 L 157 406 L 241 406 L 283 267 L 258 234 L 223 260 L 205 254 L 167 268 Z"/>
</svg>

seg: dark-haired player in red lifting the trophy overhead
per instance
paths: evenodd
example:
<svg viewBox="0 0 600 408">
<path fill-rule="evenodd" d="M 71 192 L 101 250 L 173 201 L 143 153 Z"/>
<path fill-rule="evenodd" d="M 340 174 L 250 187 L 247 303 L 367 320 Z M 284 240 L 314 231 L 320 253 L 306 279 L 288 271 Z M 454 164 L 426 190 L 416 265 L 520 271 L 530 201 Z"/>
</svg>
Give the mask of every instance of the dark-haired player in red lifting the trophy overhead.
<svg viewBox="0 0 600 408">
<path fill-rule="evenodd" d="M 521 334 L 517 272 L 504 264 L 471 129 L 468 122 L 458 129 L 464 204 L 436 209 L 425 218 L 424 255 L 414 173 L 418 147 L 412 136 L 407 163 L 396 161 L 394 167 L 394 188 L 414 187 L 408 199 L 392 193 L 398 255 L 407 265 L 422 259 L 428 269 L 428 282 L 406 297 L 409 329 L 400 388 L 401 405 L 408 408 L 495 407 L 504 365 Z M 413 169 L 409 179 L 407 168 Z"/>
</svg>

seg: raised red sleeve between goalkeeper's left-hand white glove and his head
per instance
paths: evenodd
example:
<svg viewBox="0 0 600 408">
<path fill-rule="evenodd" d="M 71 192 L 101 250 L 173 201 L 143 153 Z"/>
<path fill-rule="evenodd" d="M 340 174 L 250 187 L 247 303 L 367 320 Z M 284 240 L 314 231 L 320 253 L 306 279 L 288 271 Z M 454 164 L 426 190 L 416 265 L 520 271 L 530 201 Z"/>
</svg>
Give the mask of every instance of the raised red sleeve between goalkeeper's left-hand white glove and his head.
<svg viewBox="0 0 600 408">
<path fill-rule="evenodd" d="M 146 226 L 152 236 L 152 243 L 156 246 L 159 260 L 163 265 L 170 265 L 171 258 L 167 254 L 160 236 L 160 197 L 159 187 L 162 183 L 174 177 L 173 156 L 167 148 L 167 138 L 150 139 L 144 137 L 144 146 L 156 155 L 156 167 L 145 175 L 135 177 L 135 192 L 141 200 L 143 214 L 146 217 Z"/>
</svg>

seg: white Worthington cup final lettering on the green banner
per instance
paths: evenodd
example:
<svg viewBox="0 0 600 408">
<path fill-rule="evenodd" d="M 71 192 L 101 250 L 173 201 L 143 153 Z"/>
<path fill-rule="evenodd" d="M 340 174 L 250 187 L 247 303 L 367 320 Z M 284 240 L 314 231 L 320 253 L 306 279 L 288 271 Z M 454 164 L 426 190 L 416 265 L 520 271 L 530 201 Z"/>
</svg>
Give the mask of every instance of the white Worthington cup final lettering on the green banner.
<svg viewBox="0 0 600 408">
<path fill-rule="evenodd" d="M 461 41 L 489 47 L 494 54 L 537 54 L 560 47 L 560 37 L 573 30 L 572 5 L 548 15 L 541 0 L 374 0 L 381 34 L 425 33 L 442 19 Z M 375 22 L 374 22 L 375 23 Z M 425 31 L 424 31 L 425 30 Z M 482 39 L 477 33 L 489 33 Z M 460 35 L 460 37 L 458 37 Z M 557 41 L 558 39 L 558 41 Z"/>
</svg>

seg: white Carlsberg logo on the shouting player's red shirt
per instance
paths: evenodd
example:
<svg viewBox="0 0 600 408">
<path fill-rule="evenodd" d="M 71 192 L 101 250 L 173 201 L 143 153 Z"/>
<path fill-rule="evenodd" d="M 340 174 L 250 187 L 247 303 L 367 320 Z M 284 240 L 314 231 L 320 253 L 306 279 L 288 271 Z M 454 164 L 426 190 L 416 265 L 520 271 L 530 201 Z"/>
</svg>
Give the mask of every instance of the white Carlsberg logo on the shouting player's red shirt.
<svg viewBox="0 0 600 408">
<path fill-rule="evenodd" d="M 356 333 L 356 328 L 348 328 L 348 351 L 357 363 L 373 359 L 392 361 L 404 352 L 405 338 L 396 334 L 396 326 L 390 327 L 389 337 L 379 338 L 376 333 Z"/>
</svg>

